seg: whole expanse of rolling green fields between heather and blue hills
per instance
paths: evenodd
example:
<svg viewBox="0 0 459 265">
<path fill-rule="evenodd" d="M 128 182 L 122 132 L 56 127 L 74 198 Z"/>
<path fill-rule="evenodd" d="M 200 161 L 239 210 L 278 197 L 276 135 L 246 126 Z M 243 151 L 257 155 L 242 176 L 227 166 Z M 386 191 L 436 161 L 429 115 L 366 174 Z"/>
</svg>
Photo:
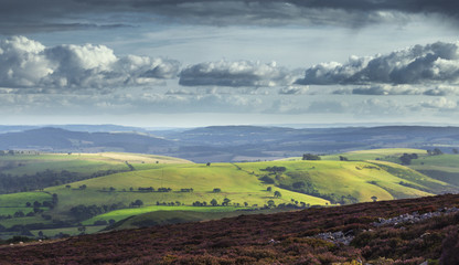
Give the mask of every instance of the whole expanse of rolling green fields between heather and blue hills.
<svg viewBox="0 0 459 265">
<path fill-rule="evenodd" d="M 409 166 L 412 168 L 394 163 L 403 153 L 417 153 L 419 158 L 413 159 Z M 340 161 L 340 156 L 348 161 Z M 377 200 L 425 197 L 451 191 L 453 188 L 448 178 L 430 178 L 416 170 L 424 172 L 423 170 L 442 169 L 459 174 L 459 168 L 455 167 L 457 162 L 459 156 L 433 157 L 418 149 L 353 151 L 323 156 L 322 160 L 314 161 L 290 158 L 210 166 L 169 157 L 117 152 L 4 156 L 0 157 L 2 172 L 7 170 L 11 174 L 33 173 L 34 170 L 38 172 L 43 169 L 72 170 L 86 174 L 99 170 L 125 171 L 49 187 L 43 191 L 0 195 L 0 215 L 13 214 L 18 210 L 28 213 L 33 209 L 25 208 L 25 203 L 51 201 L 53 194 L 58 198 L 54 209 L 42 209 L 52 220 L 44 220 L 38 214 L 31 218 L 3 219 L 0 224 L 11 227 L 17 224 L 66 221 L 74 225 L 92 225 L 99 220 L 121 221 L 135 215 L 138 216 L 136 219 L 143 220 L 140 223 L 148 223 L 146 216 L 150 216 L 152 223 L 161 224 L 177 220 L 230 216 L 238 214 L 237 210 L 241 209 L 264 208 L 271 203 L 269 201 L 275 205 L 295 203 L 308 206 L 367 202 L 374 197 Z M 268 170 L 275 167 L 284 169 Z M 267 179 L 271 182 L 266 181 Z M 139 190 L 150 187 L 154 191 Z M 159 188 L 171 190 L 158 192 Z M 268 191 L 268 188 L 271 190 Z M 192 189 L 192 192 L 182 189 Z M 214 189 L 220 191 L 214 192 Z M 225 199 L 230 200 L 230 204 L 222 206 Z M 136 200 L 141 200 L 142 205 L 129 208 Z M 212 200 L 216 200 L 218 206 L 210 206 Z M 193 206 L 196 201 L 205 202 L 207 206 Z M 161 205 L 171 203 L 174 205 Z M 118 204 L 125 209 L 76 221 L 70 210 L 82 204 L 97 208 L 105 205 L 106 209 Z"/>
</svg>

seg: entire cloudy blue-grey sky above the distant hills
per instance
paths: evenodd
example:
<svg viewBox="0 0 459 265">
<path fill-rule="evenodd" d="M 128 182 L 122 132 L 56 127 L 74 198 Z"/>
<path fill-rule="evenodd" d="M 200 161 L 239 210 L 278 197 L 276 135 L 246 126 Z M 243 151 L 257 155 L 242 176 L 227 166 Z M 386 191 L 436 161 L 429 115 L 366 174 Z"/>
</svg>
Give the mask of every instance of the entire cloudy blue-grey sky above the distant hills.
<svg viewBox="0 0 459 265">
<path fill-rule="evenodd" d="M 455 0 L 2 0 L 0 124 L 459 125 Z"/>
</svg>

